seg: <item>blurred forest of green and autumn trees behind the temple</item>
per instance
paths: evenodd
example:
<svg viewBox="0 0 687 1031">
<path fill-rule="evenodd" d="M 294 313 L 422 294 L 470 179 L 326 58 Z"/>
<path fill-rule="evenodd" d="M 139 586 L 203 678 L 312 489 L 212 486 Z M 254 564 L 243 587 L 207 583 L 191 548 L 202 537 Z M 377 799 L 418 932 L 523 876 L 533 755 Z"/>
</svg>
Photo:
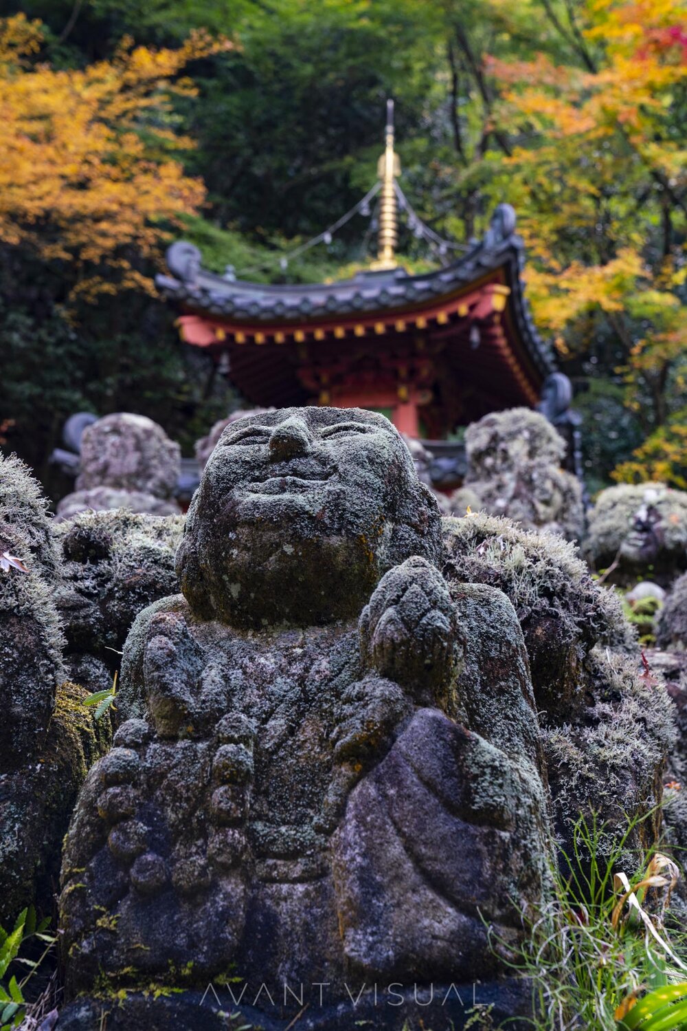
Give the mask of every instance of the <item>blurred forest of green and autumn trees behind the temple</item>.
<svg viewBox="0 0 687 1031">
<path fill-rule="evenodd" d="M 591 489 L 687 488 L 684 0 L 0 0 L 4 448 L 55 485 L 67 415 L 130 410 L 192 454 L 237 398 L 156 296 L 166 245 L 263 281 L 365 266 L 370 219 L 280 257 L 373 185 L 387 97 L 438 233 L 514 205 Z"/>
</svg>

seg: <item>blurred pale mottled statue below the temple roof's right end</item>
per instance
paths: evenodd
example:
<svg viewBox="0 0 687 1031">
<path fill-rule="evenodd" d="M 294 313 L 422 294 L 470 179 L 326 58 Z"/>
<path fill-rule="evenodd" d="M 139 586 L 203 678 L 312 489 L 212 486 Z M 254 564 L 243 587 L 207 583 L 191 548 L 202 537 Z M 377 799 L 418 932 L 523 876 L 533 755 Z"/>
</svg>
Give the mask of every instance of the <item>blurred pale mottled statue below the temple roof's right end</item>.
<svg viewBox="0 0 687 1031">
<path fill-rule="evenodd" d="M 581 538 L 580 483 L 561 469 L 565 442 L 544 415 L 529 408 L 493 411 L 468 427 L 466 451 L 468 474 L 451 496 L 453 514 L 481 509 L 526 530 Z"/>
</svg>

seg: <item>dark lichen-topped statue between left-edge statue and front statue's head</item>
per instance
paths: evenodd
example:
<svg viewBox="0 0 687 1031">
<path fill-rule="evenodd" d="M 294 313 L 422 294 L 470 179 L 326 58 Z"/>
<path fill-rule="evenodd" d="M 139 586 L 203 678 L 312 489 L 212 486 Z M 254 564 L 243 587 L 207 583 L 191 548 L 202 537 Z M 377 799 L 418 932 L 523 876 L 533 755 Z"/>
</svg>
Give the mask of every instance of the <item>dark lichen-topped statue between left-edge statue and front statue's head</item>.
<svg viewBox="0 0 687 1031">
<path fill-rule="evenodd" d="M 83 513 L 56 527 L 63 573 L 56 600 L 75 683 L 92 691 L 103 678 L 111 684 L 136 616 L 178 590 L 174 555 L 182 531 L 181 516 L 128 511 Z"/>
</svg>

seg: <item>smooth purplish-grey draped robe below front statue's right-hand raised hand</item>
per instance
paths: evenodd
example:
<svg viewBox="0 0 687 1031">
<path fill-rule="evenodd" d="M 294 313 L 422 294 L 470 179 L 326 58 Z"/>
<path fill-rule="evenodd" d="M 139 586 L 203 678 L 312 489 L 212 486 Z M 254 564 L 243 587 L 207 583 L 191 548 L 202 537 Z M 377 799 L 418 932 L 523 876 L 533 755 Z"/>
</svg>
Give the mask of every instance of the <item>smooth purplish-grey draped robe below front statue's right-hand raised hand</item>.
<svg viewBox="0 0 687 1031">
<path fill-rule="evenodd" d="M 542 890 L 537 778 L 436 709 L 419 709 L 353 790 L 334 835 L 348 968 L 376 979 L 492 976 L 521 934 L 513 898 Z M 517 801 L 516 801 L 517 800 Z"/>
</svg>

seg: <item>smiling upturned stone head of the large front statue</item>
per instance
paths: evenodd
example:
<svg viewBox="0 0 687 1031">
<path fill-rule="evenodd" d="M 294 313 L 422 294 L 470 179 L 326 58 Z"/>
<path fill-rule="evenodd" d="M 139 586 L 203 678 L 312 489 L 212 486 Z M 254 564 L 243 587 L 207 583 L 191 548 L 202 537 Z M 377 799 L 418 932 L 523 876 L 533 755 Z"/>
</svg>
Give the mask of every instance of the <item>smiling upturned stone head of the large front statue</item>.
<svg viewBox="0 0 687 1031">
<path fill-rule="evenodd" d="M 387 569 L 439 548 L 437 504 L 388 420 L 286 408 L 227 427 L 177 572 L 202 619 L 306 625 L 357 614 Z"/>
</svg>

